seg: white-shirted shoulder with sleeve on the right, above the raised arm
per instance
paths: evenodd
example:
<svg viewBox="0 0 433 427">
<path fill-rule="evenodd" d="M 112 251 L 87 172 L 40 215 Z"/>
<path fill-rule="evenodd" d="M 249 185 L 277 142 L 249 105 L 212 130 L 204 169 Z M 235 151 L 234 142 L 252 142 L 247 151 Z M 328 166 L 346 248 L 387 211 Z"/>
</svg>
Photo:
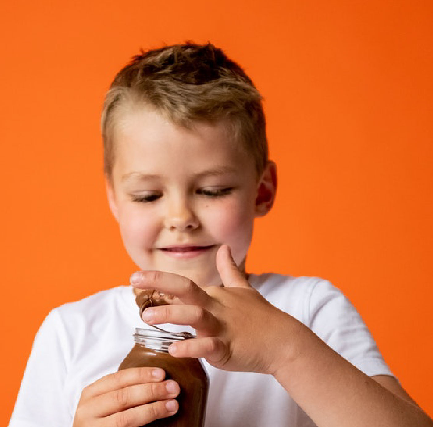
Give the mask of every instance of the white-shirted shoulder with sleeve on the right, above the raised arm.
<svg viewBox="0 0 433 427">
<path fill-rule="evenodd" d="M 268 273 L 253 275 L 250 282 L 366 375 L 392 375 L 358 311 L 329 281 Z"/>
</svg>

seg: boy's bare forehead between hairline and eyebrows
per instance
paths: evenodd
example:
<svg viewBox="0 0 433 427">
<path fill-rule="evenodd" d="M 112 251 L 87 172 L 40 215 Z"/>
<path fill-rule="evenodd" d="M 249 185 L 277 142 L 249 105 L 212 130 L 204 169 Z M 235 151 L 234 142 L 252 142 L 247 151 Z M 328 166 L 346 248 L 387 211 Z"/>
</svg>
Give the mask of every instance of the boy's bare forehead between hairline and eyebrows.
<svg viewBox="0 0 433 427">
<path fill-rule="evenodd" d="M 129 105 L 116 117 L 115 165 L 137 164 L 146 159 L 147 166 L 218 164 L 243 169 L 254 161 L 230 130 L 229 123 L 223 120 L 181 126 L 155 109 Z"/>
</svg>

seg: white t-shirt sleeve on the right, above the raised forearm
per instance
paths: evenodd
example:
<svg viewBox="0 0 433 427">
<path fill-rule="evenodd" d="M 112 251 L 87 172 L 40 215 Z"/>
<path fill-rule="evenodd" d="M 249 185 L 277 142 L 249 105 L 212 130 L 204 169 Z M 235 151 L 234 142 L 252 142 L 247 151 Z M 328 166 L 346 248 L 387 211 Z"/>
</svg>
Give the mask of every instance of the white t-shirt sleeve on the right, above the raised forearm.
<svg viewBox="0 0 433 427">
<path fill-rule="evenodd" d="M 332 349 L 368 376 L 392 375 L 359 313 L 330 282 L 310 288 L 308 326 Z"/>
</svg>

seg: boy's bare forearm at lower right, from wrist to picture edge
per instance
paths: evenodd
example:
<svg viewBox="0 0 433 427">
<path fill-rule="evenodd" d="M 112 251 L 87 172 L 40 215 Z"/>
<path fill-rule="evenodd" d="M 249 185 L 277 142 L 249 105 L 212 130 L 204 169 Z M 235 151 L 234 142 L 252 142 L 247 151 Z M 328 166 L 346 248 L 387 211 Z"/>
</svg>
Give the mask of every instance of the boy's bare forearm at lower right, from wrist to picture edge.
<svg viewBox="0 0 433 427">
<path fill-rule="evenodd" d="M 420 408 L 359 371 L 304 325 L 295 341 L 274 375 L 318 427 L 433 426 Z"/>
</svg>

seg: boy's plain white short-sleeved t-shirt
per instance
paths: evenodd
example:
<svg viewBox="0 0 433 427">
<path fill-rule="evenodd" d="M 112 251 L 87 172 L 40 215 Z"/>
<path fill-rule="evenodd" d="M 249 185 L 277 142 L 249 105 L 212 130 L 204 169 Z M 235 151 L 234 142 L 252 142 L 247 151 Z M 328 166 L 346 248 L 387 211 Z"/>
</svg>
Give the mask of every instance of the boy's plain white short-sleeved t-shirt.
<svg viewBox="0 0 433 427">
<path fill-rule="evenodd" d="M 263 274 L 250 275 L 249 282 L 366 375 L 392 375 L 355 308 L 328 281 Z M 36 334 L 9 426 L 71 426 L 82 389 L 117 371 L 136 327 L 148 328 L 130 286 L 51 311 Z M 204 366 L 210 380 L 206 427 L 314 426 L 271 375 Z"/>
</svg>

